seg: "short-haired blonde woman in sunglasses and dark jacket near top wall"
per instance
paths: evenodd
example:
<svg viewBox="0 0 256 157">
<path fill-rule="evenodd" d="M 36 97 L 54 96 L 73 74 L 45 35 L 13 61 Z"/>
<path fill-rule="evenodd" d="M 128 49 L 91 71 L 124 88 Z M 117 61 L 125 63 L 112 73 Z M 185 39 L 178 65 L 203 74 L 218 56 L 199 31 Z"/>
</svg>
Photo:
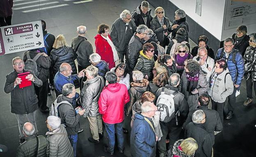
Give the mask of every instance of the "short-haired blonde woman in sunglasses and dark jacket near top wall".
<svg viewBox="0 0 256 157">
<path fill-rule="evenodd" d="M 160 45 L 165 48 L 169 44 L 168 31 L 171 31 L 169 18 L 165 17 L 165 10 L 162 7 L 155 9 L 155 17 L 151 21 L 150 29 L 154 31 Z"/>
</svg>

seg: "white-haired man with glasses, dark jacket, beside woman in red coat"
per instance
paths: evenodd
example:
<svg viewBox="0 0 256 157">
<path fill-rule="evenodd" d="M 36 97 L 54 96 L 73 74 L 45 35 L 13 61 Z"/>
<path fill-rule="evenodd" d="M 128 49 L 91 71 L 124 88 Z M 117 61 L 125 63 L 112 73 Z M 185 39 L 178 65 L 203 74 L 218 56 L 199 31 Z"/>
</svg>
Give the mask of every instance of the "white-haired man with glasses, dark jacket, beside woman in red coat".
<svg viewBox="0 0 256 157">
<path fill-rule="evenodd" d="M 136 26 L 128 10 L 122 11 L 120 18 L 112 24 L 110 37 L 122 63 L 124 63 L 124 56 L 126 56 L 127 60 L 128 44 L 135 31 Z"/>
</svg>

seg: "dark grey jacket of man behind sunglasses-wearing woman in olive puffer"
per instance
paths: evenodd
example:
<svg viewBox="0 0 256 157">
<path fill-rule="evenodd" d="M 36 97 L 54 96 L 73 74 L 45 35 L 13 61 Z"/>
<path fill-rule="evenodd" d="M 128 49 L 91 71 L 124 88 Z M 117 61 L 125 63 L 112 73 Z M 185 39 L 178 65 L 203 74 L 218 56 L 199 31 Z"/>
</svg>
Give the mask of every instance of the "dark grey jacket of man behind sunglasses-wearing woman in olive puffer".
<svg viewBox="0 0 256 157">
<path fill-rule="evenodd" d="M 128 70 L 133 71 L 139 58 L 139 51 L 142 50 L 143 41 L 136 36 L 136 32 L 128 44 Z"/>
</svg>

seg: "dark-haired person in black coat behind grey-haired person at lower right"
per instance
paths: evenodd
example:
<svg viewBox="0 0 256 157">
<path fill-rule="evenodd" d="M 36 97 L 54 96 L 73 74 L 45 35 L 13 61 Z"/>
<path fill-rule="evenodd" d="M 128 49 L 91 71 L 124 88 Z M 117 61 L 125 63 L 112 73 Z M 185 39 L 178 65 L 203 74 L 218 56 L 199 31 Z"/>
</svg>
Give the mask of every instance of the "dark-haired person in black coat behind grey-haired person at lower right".
<svg viewBox="0 0 256 157">
<path fill-rule="evenodd" d="M 222 131 L 223 126 L 221 119 L 219 117 L 219 113 L 215 110 L 211 110 L 208 108 L 210 102 L 210 97 L 208 95 L 201 95 L 198 98 L 198 104 L 199 106 L 194 111 L 191 111 L 188 116 L 186 122 L 183 124 L 183 128 L 186 128 L 187 124 L 192 122 L 192 115 L 197 110 L 203 110 L 207 117 L 207 121 L 203 123 L 204 128 L 208 131 L 210 134 L 210 137 L 212 139 L 212 143 L 214 144 L 214 134 L 219 133 Z"/>
</svg>

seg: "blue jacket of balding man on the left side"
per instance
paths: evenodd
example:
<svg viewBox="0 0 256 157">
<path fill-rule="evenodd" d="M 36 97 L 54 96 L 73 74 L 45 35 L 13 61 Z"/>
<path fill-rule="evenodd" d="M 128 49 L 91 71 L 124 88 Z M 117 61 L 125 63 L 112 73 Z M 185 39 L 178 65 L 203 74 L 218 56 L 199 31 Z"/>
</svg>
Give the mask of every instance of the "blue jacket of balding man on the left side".
<svg viewBox="0 0 256 157">
<path fill-rule="evenodd" d="M 62 94 L 62 87 L 64 84 L 74 84 L 74 80 L 78 79 L 79 77 L 77 74 L 66 77 L 58 71 L 54 77 L 55 91 L 57 91 L 58 94 Z"/>
</svg>

